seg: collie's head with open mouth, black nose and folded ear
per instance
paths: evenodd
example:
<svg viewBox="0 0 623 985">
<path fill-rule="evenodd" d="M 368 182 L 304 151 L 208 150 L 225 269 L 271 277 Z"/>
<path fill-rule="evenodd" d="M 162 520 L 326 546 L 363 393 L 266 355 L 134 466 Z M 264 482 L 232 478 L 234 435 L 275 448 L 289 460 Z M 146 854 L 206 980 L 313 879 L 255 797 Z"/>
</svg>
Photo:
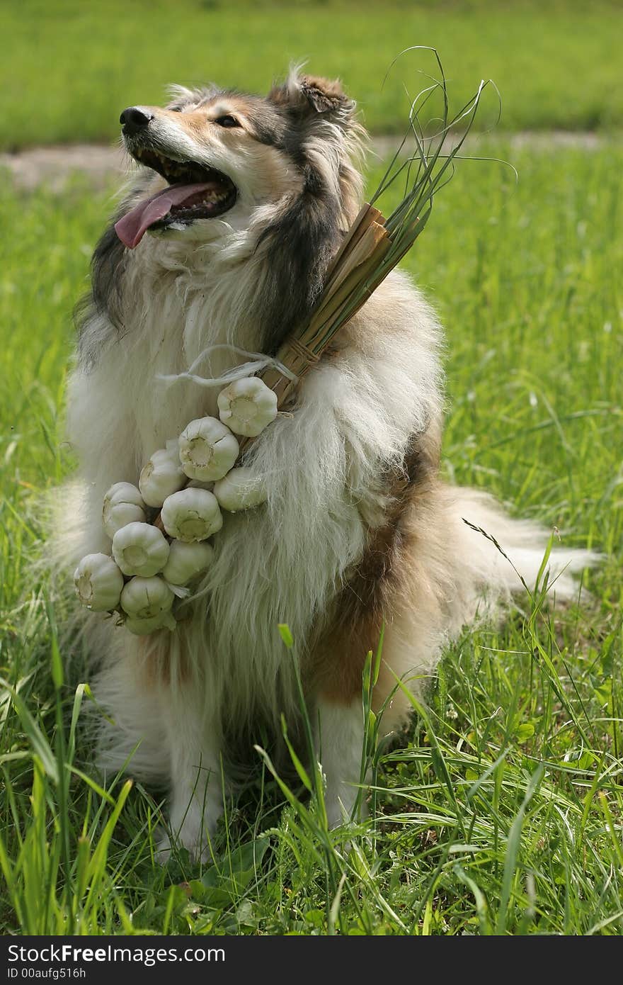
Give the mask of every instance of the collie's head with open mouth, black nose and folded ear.
<svg viewBox="0 0 623 985">
<path fill-rule="evenodd" d="M 359 128 L 339 83 L 293 71 L 266 98 L 216 88 L 171 95 L 165 108 L 121 113 L 125 147 L 150 175 L 115 225 L 128 248 L 146 231 L 211 240 L 221 218 L 227 230 L 246 229 L 304 192 L 331 199 L 346 223 L 356 211 Z"/>
</svg>

